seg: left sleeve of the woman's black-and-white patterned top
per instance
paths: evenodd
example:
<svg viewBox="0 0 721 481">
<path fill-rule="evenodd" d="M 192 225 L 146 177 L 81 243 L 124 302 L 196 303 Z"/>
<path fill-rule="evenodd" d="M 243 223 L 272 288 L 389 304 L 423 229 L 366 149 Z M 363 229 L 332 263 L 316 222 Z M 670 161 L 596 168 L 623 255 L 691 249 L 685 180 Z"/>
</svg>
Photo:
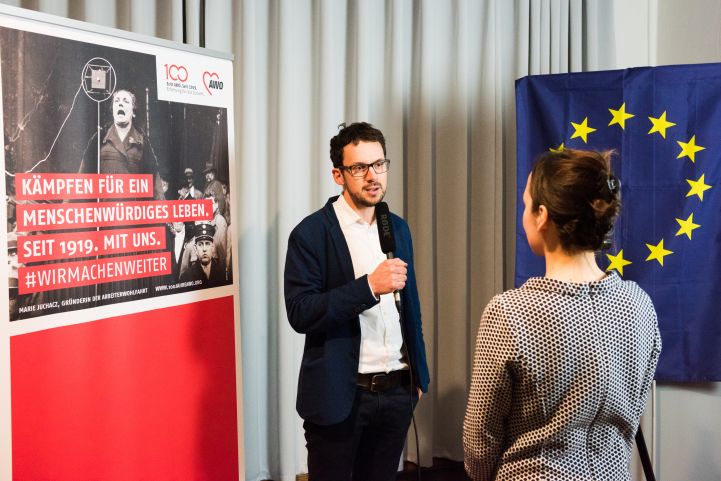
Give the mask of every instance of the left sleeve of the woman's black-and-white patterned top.
<svg viewBox="0 0 721 481">
<path fill-rule="evenodd" d="M 464 463 L 474 481 L 495 479 L 511 408 L 514 341 L 500 296 L 486 306 L 476 337 L 471 389 L 463 421 Z"/>
</svg>

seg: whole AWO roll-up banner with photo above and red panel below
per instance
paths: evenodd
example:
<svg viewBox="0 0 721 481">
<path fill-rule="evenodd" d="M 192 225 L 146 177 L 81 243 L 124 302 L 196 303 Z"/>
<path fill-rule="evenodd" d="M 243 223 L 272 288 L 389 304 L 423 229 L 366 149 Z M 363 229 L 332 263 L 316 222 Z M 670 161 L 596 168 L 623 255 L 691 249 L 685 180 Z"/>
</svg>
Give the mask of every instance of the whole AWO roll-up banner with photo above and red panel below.
<svg viewBox="0 0 721 481">
<path fill-rule="evenodd" d="M 241 479 L 233 65 L 0 8 L 0 479 Z"/>
</svg>

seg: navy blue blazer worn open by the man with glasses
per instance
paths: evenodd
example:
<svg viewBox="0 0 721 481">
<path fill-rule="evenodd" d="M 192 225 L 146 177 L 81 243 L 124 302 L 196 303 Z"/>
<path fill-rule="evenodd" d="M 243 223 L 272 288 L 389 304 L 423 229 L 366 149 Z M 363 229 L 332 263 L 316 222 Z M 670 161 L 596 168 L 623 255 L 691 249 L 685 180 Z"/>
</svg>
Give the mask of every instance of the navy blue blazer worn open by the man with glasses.
<svg viewBox="0 0 721 481">
<path fill-rule="evenodd" d="M 285 259 L 285 306 L 290 325 L 305 334 L 296 409 L 314 424 L 336 424 L 348 417 L 358 377 L 361 329 L 358 315 L 377 304 L 368 276 L 355 278 L 348 244 L 332 197 L 290 233 Z M 428 390 L 428 365 L 421 326 L 413 246 L 408 224 L 391 214 L 395 256 L 408 263 L 401 291 L 402 322 L 413 380 Z"/>
</svg>

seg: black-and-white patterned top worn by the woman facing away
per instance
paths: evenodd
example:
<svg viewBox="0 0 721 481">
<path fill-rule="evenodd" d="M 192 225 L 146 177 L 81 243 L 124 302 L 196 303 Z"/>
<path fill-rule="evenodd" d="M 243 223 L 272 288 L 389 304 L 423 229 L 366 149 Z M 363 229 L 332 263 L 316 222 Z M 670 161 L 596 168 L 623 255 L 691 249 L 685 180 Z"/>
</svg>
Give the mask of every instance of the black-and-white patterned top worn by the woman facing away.
<svg viewBox="0 0 721 481">
<path fill-rule="evenodd" d="M 656 311 L 612 273 L 531 278 L 478 330 L 463 422 L 474 480 L 630 480 L 631 443 L 661 352 Z"/>
</svg>

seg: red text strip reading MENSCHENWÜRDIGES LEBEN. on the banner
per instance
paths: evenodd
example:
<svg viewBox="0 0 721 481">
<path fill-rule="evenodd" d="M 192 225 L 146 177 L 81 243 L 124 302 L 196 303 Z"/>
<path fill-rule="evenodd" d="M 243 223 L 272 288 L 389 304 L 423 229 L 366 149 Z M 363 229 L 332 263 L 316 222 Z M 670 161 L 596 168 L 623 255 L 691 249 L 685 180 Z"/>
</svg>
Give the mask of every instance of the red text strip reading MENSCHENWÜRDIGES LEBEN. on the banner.
<svg viewBox="0 0 721 481">
<path fill-rule="evenodd" d="M 213 202 L 211 199 L 18 204 L 17 206 L 18 232 L 165 224 L 212 219 Z"/>
</svg>

